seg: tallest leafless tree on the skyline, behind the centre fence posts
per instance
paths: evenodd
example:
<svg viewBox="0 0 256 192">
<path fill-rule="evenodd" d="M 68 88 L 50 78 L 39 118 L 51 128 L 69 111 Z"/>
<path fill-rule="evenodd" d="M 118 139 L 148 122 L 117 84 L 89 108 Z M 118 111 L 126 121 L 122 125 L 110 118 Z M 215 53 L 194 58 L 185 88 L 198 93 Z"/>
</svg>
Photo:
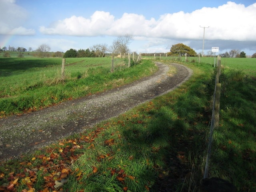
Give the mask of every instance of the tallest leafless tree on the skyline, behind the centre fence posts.
<svg viewBox="0 0 256 192">
<path fill-rule="evenodd" d="M 118 53 L 128 53 L 130 52 L 130 49 L 128 45 L 132 41 L 132 36 L 129 34 L 125 34 L 122 36 L 118 36 L 110 46 L 109 50 L 110 52 L 116 56 Z"/>
</svg>

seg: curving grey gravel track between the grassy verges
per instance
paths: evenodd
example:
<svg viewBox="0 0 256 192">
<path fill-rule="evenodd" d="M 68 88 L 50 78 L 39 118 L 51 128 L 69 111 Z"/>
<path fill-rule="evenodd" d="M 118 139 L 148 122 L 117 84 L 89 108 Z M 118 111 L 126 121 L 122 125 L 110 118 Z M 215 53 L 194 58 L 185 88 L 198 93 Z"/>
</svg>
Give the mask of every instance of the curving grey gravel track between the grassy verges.
<svg viewBox="0 0 256 192">
<path fill-rule="evenodd" d="M 0 160 L 17 158 L 20 154 L 92 128 L 98 122 L 170 92 L 192 74 L 189 68 L 172 63 L 170 65 L 176 68 L 176 73 L 170 76 L 169 65 L 160 62 L 156 65 L 156 73 L 131 84 L 28 114 L 1 118 Z"/>
</svg>

